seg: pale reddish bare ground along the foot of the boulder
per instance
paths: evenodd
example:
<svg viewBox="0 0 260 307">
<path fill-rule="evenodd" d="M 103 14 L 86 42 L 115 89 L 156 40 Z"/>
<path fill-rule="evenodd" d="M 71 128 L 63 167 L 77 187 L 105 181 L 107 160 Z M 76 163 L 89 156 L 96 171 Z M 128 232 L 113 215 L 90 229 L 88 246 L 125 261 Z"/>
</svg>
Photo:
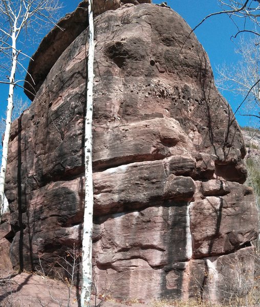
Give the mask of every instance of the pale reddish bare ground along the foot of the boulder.
<svg viewBox="0 0 260 307">
<path fill-rule="evenodd" d="M 92 296 L 91 307 L 218 307 L 212 303 L 198 304 L 192 300 L 168 303 L 167 300 L 143 302 L 135 299 L 120 301 L 111 297 L 106 300 L 100 298 L 101 300 Z M 15 272 L 0 276 L 0 307 L 80 307 L 79 301 L 79 291 L 60 280 Z"/>
</svg>

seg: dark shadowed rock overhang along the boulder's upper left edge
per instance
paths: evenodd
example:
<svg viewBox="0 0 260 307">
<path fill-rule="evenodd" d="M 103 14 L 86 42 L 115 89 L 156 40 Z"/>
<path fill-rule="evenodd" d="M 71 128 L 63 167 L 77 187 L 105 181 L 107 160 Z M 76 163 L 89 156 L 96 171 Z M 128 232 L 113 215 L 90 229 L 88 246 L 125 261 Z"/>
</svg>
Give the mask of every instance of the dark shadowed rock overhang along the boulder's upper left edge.
<svg viewBox="0 0 260 307">
<path fill-rule="evenodd" d="M 94 16 L 107 10 L 116 10 L 124 4 L 151 3 L 151 0 L 95 0 Z M 56 26 L 42 39 L 32 55 L 25 77 L 24 91 L 30 100 L 36 96 L 51 68 L 73 40 L 89 26 L 88 0 L 79 3 L 76 10 L 61 18 Z"/>
</svg>

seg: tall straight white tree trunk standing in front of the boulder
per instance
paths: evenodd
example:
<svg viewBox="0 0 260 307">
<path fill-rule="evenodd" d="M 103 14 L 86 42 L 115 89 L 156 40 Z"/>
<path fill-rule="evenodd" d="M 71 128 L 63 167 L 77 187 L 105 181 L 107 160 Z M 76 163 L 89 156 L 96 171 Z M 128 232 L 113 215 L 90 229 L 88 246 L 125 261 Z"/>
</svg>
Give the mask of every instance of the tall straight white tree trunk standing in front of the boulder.
<svg viewBox="0 0 260 307">
<path fill-rule="evenodd" d="M 92 114 L 94 80 L 94 23 L 92 0 L 89 0 L 89 57 L 88 86 L 85 117 L 85 203 L 82 238 L 82 286 L 81 307 L 90 307 L 92 287 L 92 230 L 93 230 L 93 181 L 92 181 Z"/>
</svg>

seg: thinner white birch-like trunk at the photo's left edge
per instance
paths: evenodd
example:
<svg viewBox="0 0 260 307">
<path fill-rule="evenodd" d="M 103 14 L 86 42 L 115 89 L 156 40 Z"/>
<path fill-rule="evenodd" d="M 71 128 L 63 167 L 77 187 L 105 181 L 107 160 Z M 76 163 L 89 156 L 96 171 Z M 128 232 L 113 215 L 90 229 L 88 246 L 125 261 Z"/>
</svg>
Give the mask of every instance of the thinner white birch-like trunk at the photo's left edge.
<svg viewBox="0 0 260 307">
<path fill-rule="evenodd" d="M 5 137 L 3 141 L 3 153 L 2 153 L 2 165 L 0 173 L 0 204 L 1 204 L 1 221 L 2 215 L 5 212 L 9 211 L 8 202 L 5 202 L 5 181 L 6 181 L 6 167 L 7 167 L 7 158 L 8 158 L 8 143 L 10 138 L 10 130 L 12 123 L 12 111 L 13 111 L 13 93 L 14 93 L 14 77 L 17 64 L 18 52 L 16 51 L 16 24 L 14 24 L 12 32 L 12 68 L 9 76 L 9 94 L 8 94 L 8 104 L 7 104 L 7 115 L 6 115 L 6 129 Z"/>
</svg>

